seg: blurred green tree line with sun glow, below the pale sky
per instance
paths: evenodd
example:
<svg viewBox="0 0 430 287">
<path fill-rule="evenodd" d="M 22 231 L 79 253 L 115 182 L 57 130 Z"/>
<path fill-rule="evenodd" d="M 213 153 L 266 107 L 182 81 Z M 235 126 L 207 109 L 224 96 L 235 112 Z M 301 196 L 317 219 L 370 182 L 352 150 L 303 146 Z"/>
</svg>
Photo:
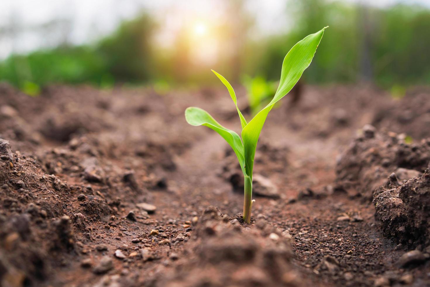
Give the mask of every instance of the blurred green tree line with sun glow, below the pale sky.
<svg viewBox="0 0 430 287">
<path fill-rule="evenodd" d="M 252 30 L 255 15 L 246 11 L 244 1 L 226 1 L 224 8 L 224 17 L 217 20 L 190 16 L 171 45 L 157 42 L 163 23 L 144 12 L 93 44 L 9 56 L 0 62 L 0 80 L 31 95 L 49 83 L 153 83 L 166 93 L 176 84 L 213 83 L 213 68 L 233 83 L 242 81 L 251 109 L 258 110 L 273 95 L 279 58 L 305 35 L 329 25 L 305 83 L 367 81 L 397 97 L 405 86 L 430 83 L 430 10 L 424 7 L 288 0 L 289 30 L 258 36 Z"/>
</svg>

